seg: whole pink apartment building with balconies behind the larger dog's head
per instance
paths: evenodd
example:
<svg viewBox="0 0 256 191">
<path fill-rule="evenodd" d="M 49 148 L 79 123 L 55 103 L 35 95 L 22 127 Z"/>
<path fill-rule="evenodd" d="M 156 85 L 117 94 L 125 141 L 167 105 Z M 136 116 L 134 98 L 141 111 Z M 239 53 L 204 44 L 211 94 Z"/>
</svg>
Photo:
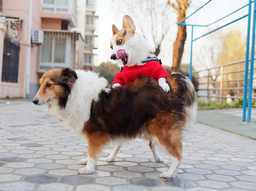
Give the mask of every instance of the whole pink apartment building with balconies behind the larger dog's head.
<svg viewBox="0 0 256 191">
<path fill-rule="evenodd" d="M 51 67 L 91 69 L 94 14 L 95 0 L 0 0 L 0 98 L 34 97 Z"/>
</svg>

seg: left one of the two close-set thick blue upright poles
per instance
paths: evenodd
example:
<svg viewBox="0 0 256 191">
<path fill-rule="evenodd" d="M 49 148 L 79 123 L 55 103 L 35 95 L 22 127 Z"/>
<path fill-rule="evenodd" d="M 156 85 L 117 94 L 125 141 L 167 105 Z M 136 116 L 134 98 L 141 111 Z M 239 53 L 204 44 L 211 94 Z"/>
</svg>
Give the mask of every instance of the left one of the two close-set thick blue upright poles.
<svg viewBox="0 0 256 191">
<path fill-rule="evenodd" d="M 249 44 L 250 44 L 250 28 L 251 28 L 251 7 L 252 0 L 248 4 L 248 25 L 247 25 L 247 39 L 246 39 L 246 54 L 245 54 L 245 82 L 243 84 L 243 118 L 246 118 L 246 105 L 247 105 L 247 87 L 248 87 L 248 65 L 249 65 Z"/>
</svg>

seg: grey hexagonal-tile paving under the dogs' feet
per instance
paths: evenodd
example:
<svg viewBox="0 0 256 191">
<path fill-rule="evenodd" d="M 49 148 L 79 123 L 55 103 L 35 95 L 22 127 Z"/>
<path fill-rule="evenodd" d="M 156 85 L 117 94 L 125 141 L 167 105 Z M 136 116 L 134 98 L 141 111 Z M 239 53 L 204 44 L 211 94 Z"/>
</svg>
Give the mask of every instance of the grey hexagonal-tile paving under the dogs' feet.
<svg viewBox="0 0 256 191">
<path fill-rule="evenodd" d="M 156 163 L 143 140 L 125 144 L 116 162 L 101 154 L 96 172 L 79 175 L 88 144 L 50 116 L 46 106 L 0 100 L 0 190 L 256 190 L 256 141 L 195 124 L 183 141 L 177 177 L 162 180 L 168 169 Z"/>
</svg>

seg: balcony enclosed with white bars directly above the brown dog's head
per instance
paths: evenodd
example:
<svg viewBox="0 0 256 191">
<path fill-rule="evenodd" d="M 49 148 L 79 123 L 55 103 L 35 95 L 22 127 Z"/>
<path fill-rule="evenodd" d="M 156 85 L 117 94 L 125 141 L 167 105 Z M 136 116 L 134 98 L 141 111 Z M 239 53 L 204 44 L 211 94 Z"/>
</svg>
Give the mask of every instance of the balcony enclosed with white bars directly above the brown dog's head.
<svg viewBox="0 0 256 191">
<path fill-rule="evenodd" d="M 40 46 L 40 61 L 38 73 L 47 69 L 73 68 L 76 39 L 78 33 L 44 32 L 44 41 Z"/>
</svg>

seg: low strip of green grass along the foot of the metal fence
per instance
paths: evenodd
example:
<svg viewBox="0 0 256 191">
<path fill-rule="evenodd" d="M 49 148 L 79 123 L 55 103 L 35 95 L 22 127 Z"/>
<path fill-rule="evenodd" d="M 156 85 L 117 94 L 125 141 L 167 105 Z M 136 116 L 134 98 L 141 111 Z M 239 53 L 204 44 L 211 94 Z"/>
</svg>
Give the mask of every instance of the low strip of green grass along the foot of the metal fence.
<svg viewBox="0 0 256 191">
<path fill-rule="evenodd" d="M 217 101 L 203 101 L 203 100 L 197 100 L 197 103 L 198 103 L 198 110 L 232 109 L 232 108 L 243 107 L 242 98 L 239 98 L 239 100 L 233 104 L 228 104 L 226 101 L 223 103 L 219 103 Z M 256 107 L 256 103 L 253 103 L 252 107 Z"/>
</svg>

